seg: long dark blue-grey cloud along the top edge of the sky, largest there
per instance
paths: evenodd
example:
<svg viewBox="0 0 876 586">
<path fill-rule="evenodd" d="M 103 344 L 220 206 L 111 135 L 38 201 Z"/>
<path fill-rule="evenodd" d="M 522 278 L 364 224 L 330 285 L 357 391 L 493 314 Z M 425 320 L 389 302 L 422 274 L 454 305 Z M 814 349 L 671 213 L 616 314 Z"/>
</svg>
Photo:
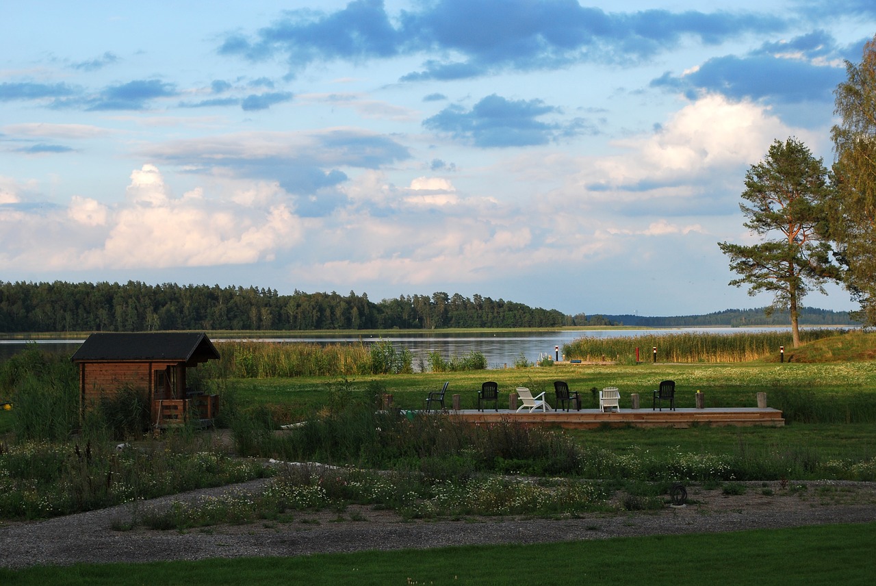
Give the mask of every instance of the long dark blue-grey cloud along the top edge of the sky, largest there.
<svg viewBox="0 0 876 586">
<path fill-rule="evenodd" d="M 219 53 L 286 59 L 297 74 L 316 62 L 446 54 L 404 81 L 464 79 L 578 62 L 636 63 L 695 38 L 716 44 L 748 32 L 781 31 L 781 18 L 745 12 L 605 12 L 566 0 L 436 0 L 392 18 L 381 0 L 336 11 L 289 11 L 252 35 L 235 32 Z"/>
</svg>

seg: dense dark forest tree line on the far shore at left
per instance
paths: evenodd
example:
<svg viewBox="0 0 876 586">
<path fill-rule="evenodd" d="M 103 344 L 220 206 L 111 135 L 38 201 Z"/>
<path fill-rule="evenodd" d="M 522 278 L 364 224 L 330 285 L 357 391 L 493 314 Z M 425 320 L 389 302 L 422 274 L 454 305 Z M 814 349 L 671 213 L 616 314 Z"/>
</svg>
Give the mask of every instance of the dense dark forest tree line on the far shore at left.
<svg viewBox="0 0 876 586">
<path fill-rule="evenodd" d="M 577 320 L 577 321 L 576 321 Z M 597 320 L 598 321 L 598 320 Z M 601 323 L 601 322 L 600 322 Z M 555 328 L 588 325 L 583 314 L 456 293 L 280 295 L 254 286 L 25 283 L 0 281 L 0 331 L 315 330 Z"/>
</svg>

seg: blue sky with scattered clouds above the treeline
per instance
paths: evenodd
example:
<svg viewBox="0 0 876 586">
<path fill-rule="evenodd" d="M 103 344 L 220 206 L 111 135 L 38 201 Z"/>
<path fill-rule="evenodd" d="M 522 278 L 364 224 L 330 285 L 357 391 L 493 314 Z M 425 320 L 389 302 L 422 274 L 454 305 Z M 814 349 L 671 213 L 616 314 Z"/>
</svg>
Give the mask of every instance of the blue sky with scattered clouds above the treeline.
<svg viewBox="0 0 876 586">
<path fill-rule="evenodd" d="M 3 2 L 0 280 L 764 307 L 745 172 L 833 161 L 872 0 Z M 803 305 L 856 306 L 838 286 Z"/>
</svg>

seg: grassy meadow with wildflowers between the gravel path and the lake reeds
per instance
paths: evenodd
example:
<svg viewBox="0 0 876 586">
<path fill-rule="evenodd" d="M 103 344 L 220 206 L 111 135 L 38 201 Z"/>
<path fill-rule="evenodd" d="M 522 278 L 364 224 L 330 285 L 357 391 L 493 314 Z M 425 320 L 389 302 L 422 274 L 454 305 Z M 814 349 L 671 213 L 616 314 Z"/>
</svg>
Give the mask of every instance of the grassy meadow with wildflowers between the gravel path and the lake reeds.
<svg viewBox="0 0 876 586">
<path fill-rule="evenodd" d="M 871 335 L 825 336 L 789 352 L 785 363 L 761 356 L 747 362 L 543 364 L 416 373 L 406 368 L 402 351 L 384 347 L 380 364 L 386 368 L 374 369 L 373 357 L 360 355 L 362 364 L 371 363 L 368 368 L 295 377 L 272 375 L 270 364 L 288 363 L 288 358 L 255 356 L 279 349 L 237 346 L 227 355 L 221 350 L 224 359 L 234 360 L 193 372 L 195 384 L 222 399 L 217 424 L 230 437 L 226 444 L 191 426 L 158 439 L 145 433 L 136 392 L 123 393 L 80 420 L 69 362 L 34 350 L 0 365 L 0 385 L 13 389 L 14 405 L 0 411 L 0 519 L 43 519 L 273 474 L 258 463 L 262 458 L 344 469 L 332 475 L 334 481 L 310 469 L 279 475 L 265 498 L 251 505 L 214 502 L 136 523 L 187 530 L 223 519 L 258 522 L 351 504 L 392 509 L 408 519 L 521 511 L 550 517 L 606 510 L 618 491 L 630 497 L 623 501 L 628 510 L 660 508 L 675 483 L 876 481 L 876 368 L 861 359 L 873 342 Z M 394 406 L 421 409 L 427 392 L 445 381 L 449 396 L 458 393 L 463 408 L 474 408 L 477 389 L 488 379 L 498 382 L 502 393 L 522 385 L 547 391 L 551 401 L 553 381 L 566 380 L 582 392 L 585 408 L 596 406 L 598 389 L 617 386 L 621 406 L 628 408 L 632 392 L 646 401 L 666 378 L 676 381 L 679 406 L 694 406 L 696 391 L 704 393 L 706 406 L 754 406 L 756 393 L 767 392 L 769 406 L 783 411 L 787 425 L 563 432 L 512 423 L 470 427 L 442 416 L 408 418 L 381 408 L 392 395 Z M 47 405 L 52 406 L 48 411 Z M 280 430 L 295 423 L 300 425 Z M 135 448 L 118 451 L 118 441 Z M 552 499 L 558 486 L 575 498 Z M 779 540 L 789 539 L 787 531 L 777 534 Z M 386 555 L 402 559 L 405 554 Z"/>
</svg>

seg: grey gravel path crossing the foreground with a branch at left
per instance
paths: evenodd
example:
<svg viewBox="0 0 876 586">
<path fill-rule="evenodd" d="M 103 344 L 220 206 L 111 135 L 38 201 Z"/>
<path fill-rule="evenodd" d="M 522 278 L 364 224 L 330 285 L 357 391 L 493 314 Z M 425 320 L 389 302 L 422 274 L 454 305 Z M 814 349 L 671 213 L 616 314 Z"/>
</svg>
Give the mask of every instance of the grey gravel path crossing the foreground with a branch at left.
<svg viewBox="0 0 876 586">
<path fill-rule="evenodd" d="M 268 555 L 426 548 L 466 544 L 540 543 L 618 536 L 714 533 L 754 528 L 876 521 L 876 483 L 808 482 L 782 487 L 751 483 L 744 495 L 689 488 L 689 505 L 658 512 L 591 513 L 576 519 L 480 518 L 405 522 L 392 512 L 350 507 L 337 512 L 297 513 L 286 524 L 216 526 L 187 533 L 142 528 L 115 531 L 145 507 L 167 506 L 224 491 L 258 491 L 269 480 L 193 491 L 132 505 L 38 522 L 0 524 L 0 566 L 76 562 L 201 560 Z M 357 520 L 351 520 L 357 519 Z"/>
</svg>

